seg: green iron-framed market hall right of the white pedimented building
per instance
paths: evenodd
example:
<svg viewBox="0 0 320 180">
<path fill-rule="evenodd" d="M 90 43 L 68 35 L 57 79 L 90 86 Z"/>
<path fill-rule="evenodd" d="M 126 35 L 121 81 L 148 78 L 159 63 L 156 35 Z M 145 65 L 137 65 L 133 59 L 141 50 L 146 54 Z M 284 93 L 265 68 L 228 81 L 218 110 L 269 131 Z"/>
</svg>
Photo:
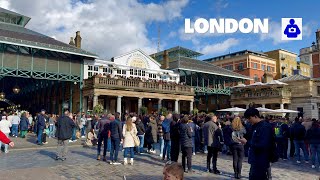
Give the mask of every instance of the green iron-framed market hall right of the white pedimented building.
<svg viewBox="0 0 320 180">
<path fill-rule="evenodd" d="M 180 75 L 180 82 L 194 88 L 195 107 L 213 112 L 230 107 L 231 87 L 250 77 L 198 60 L 202 54 L 184 47 L 173 47 L 150 55 L 164 69 Z"/>
</svg>

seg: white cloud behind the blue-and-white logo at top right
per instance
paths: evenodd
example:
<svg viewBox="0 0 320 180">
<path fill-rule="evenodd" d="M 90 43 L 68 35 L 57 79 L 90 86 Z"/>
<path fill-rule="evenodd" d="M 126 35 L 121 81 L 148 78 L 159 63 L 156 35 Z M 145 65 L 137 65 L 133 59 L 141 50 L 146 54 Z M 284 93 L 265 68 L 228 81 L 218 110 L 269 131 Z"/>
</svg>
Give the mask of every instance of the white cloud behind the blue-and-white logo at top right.
<svg viewBox="0 0 320 180">
<path fill-rule="evenodd" d="M 302 27 L 302 36 L 303 37 L 309 37 L 312 34 L 312 24 L 313 23 L 304 23 Z M 269 33 L 267 34 L 259 34 L 260 40 L 272 40 L 274 45 L 280 44 L 280 43 L 288 43 L 290 41 L 281 40 L 281 22 L 275 22 L 275 21 L 269 21 Z"/>
</svg>

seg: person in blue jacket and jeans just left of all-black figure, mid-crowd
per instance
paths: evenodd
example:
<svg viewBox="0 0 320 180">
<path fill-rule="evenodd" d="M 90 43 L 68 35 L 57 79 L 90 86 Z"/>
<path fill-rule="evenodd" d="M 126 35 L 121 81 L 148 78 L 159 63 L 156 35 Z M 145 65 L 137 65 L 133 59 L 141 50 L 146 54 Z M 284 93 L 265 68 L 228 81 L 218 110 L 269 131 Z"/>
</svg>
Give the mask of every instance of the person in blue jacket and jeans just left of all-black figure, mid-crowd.
<svg viewBox="0 0 320 180">
<path fill-rule="evenodd" d="M 170 124 L 172 122 L 172 114 L 169 113 L 167 118 L 162 122 L 162 132 L 163 132 L 163 140 L 164 140 L 164 147 L 163 147 L 163 155 L 162 160 L 165 160 L 167 155 L 167 161 L 171 160 L 170 157 L 170 150 L 171 150 L 171 139 L 170 139 Z"/>
</svg>

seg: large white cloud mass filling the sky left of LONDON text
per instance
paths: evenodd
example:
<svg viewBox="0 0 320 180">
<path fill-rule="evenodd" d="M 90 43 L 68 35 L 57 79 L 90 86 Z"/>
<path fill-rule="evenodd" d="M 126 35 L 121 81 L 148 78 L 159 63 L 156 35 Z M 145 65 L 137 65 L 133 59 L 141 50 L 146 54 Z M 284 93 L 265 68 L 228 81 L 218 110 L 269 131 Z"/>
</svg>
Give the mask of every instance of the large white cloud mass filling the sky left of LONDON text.
<svg viewBox="0 0 320 180">
<path fill-rule="evenodd" d="M 147 37 L 147 24 L 180 17 L 188 1 L 0 0 L 0 6 L 31 17 L 29 29 L 66 43 L 80 30 L 83 49 L 110 58 L 136 48 L 155 52 L 156 44 Z"/>
</svg>

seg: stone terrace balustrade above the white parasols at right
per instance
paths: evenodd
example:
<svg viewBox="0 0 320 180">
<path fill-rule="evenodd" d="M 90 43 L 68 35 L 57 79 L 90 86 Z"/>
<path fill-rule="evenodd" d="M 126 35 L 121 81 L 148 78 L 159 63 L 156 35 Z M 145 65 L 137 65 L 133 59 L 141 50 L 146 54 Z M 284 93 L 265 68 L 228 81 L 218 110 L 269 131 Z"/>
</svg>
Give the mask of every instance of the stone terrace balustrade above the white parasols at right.
<svg viewBox="0 0 320 180">
<path fill-rule="evenodd" d="M 287 98 L 291 96 L 291 92 L 288 90 L 267 90 L 267 91 L 245 91 L 234 92 L 231 95 L 231 99 L 243 99 L 243 98 Z"/>
</svg>

